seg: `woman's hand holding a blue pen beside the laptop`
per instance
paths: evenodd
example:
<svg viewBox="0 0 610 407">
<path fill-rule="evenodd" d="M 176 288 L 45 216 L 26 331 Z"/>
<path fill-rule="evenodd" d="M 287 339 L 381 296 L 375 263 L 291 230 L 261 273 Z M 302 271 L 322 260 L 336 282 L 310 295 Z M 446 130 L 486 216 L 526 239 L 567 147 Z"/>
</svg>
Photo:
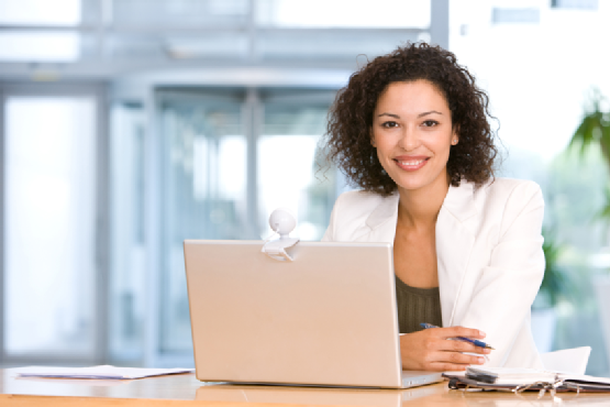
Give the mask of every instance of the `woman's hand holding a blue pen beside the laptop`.
<svg viewBox="0 0 610 407">
<path fill-rule="evenodd" d="M 409 371 L 465 371 L 473 364 L 485 363 L 485 358 L 462 352 L 487 354 L 489 349 L 475 346 L 450 338 L 483 339 L 485 333 L 464 327 L 430 328 L 400 337 L 402 369 Z"/>
</svg>

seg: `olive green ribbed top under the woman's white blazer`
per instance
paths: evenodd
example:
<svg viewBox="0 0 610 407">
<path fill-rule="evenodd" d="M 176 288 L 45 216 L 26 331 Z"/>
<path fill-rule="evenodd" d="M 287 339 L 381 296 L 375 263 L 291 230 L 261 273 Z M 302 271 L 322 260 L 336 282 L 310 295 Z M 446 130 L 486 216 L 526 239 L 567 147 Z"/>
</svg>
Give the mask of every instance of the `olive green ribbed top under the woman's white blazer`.
<svg viewBox="0 0 610 407">
<path fill-rule="evenodd" d="M 396 302 L 400 333 L 421 331 L 421 322 L 443 326 L 439 287 L 411 287 L 396 277 Z"/>
</svg>

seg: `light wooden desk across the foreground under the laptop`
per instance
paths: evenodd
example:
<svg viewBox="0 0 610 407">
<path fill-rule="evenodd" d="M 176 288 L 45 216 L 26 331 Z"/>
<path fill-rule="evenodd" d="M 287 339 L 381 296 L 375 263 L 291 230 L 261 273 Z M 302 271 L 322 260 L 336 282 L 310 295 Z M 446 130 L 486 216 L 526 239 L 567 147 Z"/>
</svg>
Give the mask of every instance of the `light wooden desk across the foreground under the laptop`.
<svg viewBox="0 0 610 407">
<path fill-rule="evenodd" d="M 463 393 L 448 391 L 446 383 L 407 391 L 346 388 L 237 386 L 202 384 L 192 374 L 151 377 L 137 381 L 107 382 L 85 380 L 18 378 L 0 370 L 0 406 L 206 406 L 277 407 L 307 406 L 557 406 L 546 394 Z M 609 394 L 563 393 L 562 406 L 610 405 Z"/>
</svg>

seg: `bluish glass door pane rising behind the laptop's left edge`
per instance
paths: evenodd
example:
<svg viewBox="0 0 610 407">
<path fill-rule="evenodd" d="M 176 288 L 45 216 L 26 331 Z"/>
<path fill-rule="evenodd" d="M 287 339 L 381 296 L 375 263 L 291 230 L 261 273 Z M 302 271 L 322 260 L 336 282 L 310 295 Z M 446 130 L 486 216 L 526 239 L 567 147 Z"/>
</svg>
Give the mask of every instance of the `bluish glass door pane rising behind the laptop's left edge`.
<svg viewBox="0 0 610 407">
<path fill-rule="evenodd" d="M 182 241 L 247 239 L 243 92 L 159 91 L 162 130 L 162 353 L 192 342 Z"/>
</svg>

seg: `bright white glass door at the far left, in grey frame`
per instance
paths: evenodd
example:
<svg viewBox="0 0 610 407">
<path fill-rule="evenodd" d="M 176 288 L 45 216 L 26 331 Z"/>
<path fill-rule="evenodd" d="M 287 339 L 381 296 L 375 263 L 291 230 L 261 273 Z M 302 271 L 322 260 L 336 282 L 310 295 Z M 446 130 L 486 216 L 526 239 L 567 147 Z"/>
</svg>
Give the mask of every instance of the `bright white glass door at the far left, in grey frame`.
<svg viewBox="0 0 610 407">
<path fill-rule="evenodd" d="M 98 96 L 2 96 L 3 356 L 93 360 Z"/>
</svg>

